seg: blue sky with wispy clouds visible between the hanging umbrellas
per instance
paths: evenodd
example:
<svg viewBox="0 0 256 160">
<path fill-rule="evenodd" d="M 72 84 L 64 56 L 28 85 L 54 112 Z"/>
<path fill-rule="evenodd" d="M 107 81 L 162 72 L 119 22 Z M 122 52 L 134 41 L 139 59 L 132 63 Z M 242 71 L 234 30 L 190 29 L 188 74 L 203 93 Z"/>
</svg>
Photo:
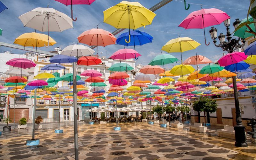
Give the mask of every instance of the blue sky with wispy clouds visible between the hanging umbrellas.
<svg viewBox="0 0 256 160">
<path fill-rule="evenodd" d="M 135 0 L 130 1 L 135 2 Z M 147 8 L 150 8 L 160 2 L 160 0 L 137 1 Z M 0 28 L 3 29 L 3 36 L 0 36 L 1 42 L 12 44 L 15 38 L 21 34 L 33 32 L 34 30 L 32 28 L 23 27 L 22 22 L 17 17 L 33 10 L 36 7 L 47 7 L 47 4 L 49 3 L 50 8 L 54 8 L 70 16 L 70 6 L 66 6 L 55 0 L 1 0 L 1 2 L 9 8 L 8 10 L 0 13 Z M 77 36 L 85 30 L 96 28 L 97 25 L 99 28 L 108 30 L 109 32 L 114 31 L 116 28 L 103 23 L 103 11 L 119 2 L 121 2 L 121 0 L 96 0 L 91 4 L 91 6 L 73 5 L 73 17 L 77 17 L 77 21 L 73 21 L 74 28 L 65 30 L 61 33 L 50 32 L 50 36 L 57 42 L 57 44 L 50 46 L 49 48 L 41 47 L 40 49 L 44 51 L 51 51 L 54 50 L 54 47 L 58 47 L 60 45 L 64 48 L 67 45 L 76 44 Z M 218 60 L 223 51 L 221 48 L 215 47 L 212 43 L 209 34 L 210 27 L 205 28 L 207 42 L 210 42 L 210 45 L 206 46 L 204 44 L 203 29 L 185 30 L 184 28 L 178 27 L 178 25 L 188 16 L 189 13 L 201 9 L 201 6 L 198 4 L 203 4 L 203 8 L 217 8 L 228 13 L 228 15 L 231 16 L 230 30 L 233 32 L 234 27 L 232 26 L 232 23 L 236 18 L 239 18 L 240 20 L 244 19 L 247 16 L 247 10 L 249 7 L 249 0 L 187 0 L 187 3 L 192 3 L 190 4 L 189 10 L 184 9 L 183 0 L 173 0 L 155 12 L 156 17 L 154 18 L 152 25 L 138 29 L 140 31 L 147 32 L 153 36 L 154 39 L 153 43 L 136 47 L 136 51 L 142 55 L 142 57 L 136 60 L 136 64 L 147 65 L 156 55 L 161 54 L 160 50 L 165 43 L 178 37 L 178 33 L 180 34 L 180 37 L 188 36 L 201 44 L 196 48 L 196 50 L 183 52 L 183 60 L 190 56 L 194 56 L 196 52 L 200 55 L 206 56 L 212 61 Z M 223 23 L 216 25 L 215 28 L 218 29 L 218 35 L 220 32 L 226 33 L 226 28 Z M 128 31 L 128 29 L 125 31 Z M 116 37 L 119 35 L 120 34 L 116 35 Z M 99 47 L 98 50 L 103 52 L 102 56 L 110 57 L 112 53 L 122 48 L 124 48 L 122 45 L 109 45 L 106 47 Z M 21 50 L 13 50 L 2 46 L 0 47 L 0 51 L 11 50 L 13 53 L 17 54 L 25 53 L 25 51 Z M 172 55 L 180 59 L 180 53 L 172 53 Z M 180 62 L 178 64 L 180 64 Z M 176 63 L 168 64 L 167 68 L 171 68 L 173 65 L 176 65 Z"/>
</svg>

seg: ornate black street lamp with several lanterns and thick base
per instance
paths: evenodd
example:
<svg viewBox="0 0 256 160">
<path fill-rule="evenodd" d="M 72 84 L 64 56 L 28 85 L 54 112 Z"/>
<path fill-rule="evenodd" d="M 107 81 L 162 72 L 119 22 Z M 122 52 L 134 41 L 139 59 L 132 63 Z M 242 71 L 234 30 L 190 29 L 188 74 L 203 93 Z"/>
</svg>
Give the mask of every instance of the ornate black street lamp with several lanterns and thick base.
<svg viewBox="0 0 256 160">
<path fill-rule="evenodd" d="M 234 28 L 238 26 L 238 24 L 241 22 L 241 20 L 236 19 L 236 21 L 233 23 Z M 220 44 L 216 44 L 216 39 L 217 39 L 217 29 L 212 27 L 212 29 L 209 30 L 211 38 L 213 40 L 213 43 L 216 47 L 222 48 L 223 51 L 226 51 L 228 53 L 234 52 L 236 49 L 241 48 L 245 44 L 245 39 L 241 38 L 242 44 L 240 44 L 240 37 L 238 39 L 231 37 L 230 31 L 229 31 L 229 26 L 230 26 L 230 19 L 227 19 L 224 21 L 224 25 L 227 29 L 227 34 L 223 35 L 223 33 L 220 33 L 218 36 L 218 39 L 220 40 Z M 227 41 L 226 41 L 226 36 L 227 36 Z M 234 126 L 235 130 L 235 137 L 236 137 L 236 142 L 235 146 L 236 147 L 247 147 L 247 142 L 246 142 L 246 135 L 245 135 L 245 126 L 242 124 L 242 118 L 241 118 L 241 112 L 239 109 L 239 100 L 238 100 L 238 93 L 237 93 L 237 86 L 236 86 L 236 76 L 232 77 L 233 80 L 233 89 L 234 89 L 234 99 L 235 99 L 235 107 L 236 107 L 236 125 Z"/>
</svg>

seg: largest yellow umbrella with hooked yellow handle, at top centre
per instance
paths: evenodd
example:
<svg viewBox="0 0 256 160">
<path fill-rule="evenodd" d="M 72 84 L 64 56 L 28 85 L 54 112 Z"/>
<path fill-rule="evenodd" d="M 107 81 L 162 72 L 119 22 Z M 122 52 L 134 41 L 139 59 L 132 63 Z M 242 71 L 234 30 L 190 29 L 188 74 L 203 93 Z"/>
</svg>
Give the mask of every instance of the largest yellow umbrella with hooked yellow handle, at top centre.
<svg viewBox="0 0 256 160">
<path fill-rule="evenodd" d="M 103 22 L 110 24 L 115 28 L 129 28 L 129 40 L 125 39 L 126 43 L 130 42 L 130 28 L 137 29 L 142 26 L 151 25 L 156 14 L 145 8 L 139 2 L 122 1 L 103 12 Z"/>
</svg>

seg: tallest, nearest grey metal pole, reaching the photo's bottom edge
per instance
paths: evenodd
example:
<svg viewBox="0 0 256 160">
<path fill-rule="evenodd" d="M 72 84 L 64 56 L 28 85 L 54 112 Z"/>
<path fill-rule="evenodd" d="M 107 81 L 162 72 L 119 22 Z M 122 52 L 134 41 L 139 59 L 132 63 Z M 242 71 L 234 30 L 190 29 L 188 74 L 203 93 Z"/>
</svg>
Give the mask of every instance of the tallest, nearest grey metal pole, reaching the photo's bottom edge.
<svg viewBox="0 0 256 160">
<path fill-rule="evenodd" d="M 78 160 L 77 101 L 76 101 L 76 62 L 73 62 L 73 104 L 74 104 L 75 160 Z"/>
</svg>

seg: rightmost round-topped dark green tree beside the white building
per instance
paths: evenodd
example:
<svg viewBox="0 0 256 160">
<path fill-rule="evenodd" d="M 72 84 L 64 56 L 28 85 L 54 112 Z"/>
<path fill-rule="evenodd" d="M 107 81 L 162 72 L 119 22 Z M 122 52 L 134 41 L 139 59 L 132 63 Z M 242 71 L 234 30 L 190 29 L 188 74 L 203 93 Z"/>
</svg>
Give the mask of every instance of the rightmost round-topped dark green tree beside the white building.
<svg viewBox="0 0 256 160">
<path fill-rule="evenodd" d="M 205 112 L 216 112 L 218 104 L 216 104 L 216 100 L 212 100 L 206 97 L 200 97 L 198 101 L 195 101 L 192 105 L 195 111 L 204 112 L 204 125 L 206 124 Z"/>
</svg>

